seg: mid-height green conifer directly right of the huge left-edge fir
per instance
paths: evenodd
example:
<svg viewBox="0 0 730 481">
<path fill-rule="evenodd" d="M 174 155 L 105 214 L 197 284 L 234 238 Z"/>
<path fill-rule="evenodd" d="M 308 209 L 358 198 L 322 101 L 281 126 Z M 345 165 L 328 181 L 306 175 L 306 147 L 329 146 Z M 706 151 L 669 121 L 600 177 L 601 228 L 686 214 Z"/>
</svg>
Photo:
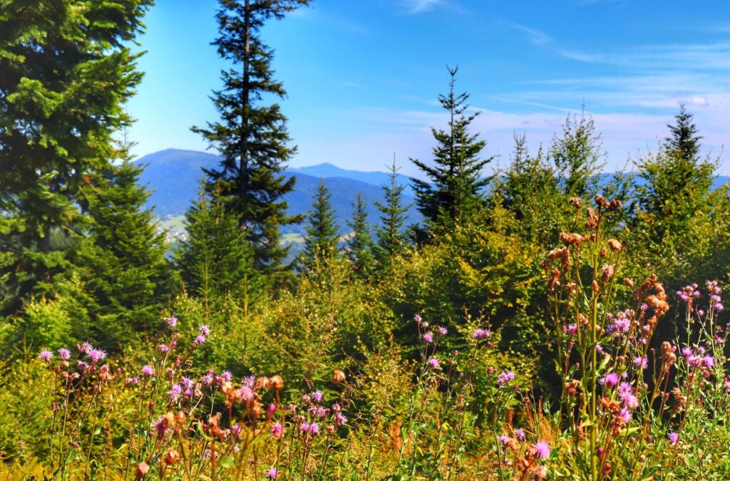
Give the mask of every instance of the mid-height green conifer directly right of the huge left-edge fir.
<svg viewBox="0 0 730 481">
<path fill-rule="evenodd" d="M 144 208 L 150 193 L 139 185 L 143 167 L 126 153 L 124 147 L 122 162 L 110 165 L 99 185 L 85 186 L 91 223 L 72 259 L 85 294 L 93 299 L 89 315 L 109 341 L 154 328 L 173 285 L 165 234 Z"/>
</svg>

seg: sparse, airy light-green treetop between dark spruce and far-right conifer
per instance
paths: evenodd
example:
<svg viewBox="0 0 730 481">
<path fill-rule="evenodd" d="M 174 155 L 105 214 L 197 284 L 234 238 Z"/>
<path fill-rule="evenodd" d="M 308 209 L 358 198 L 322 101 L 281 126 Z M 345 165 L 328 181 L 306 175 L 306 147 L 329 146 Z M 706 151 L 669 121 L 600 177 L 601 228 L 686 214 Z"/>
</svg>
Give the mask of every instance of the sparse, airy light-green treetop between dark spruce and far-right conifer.
<svg viewBox="0 0 730 481">
<path fill-rule="evenodd" d="M 570 115 L 563 124 L 563 136 L 553 136 L 550 158 L 556 166 L 563 193 L 570 197 L 592 198 L 596 194 L 597 175 L 605 165 L 606 154 L 601 151 L 602 135 L 596 133 L 593 119 L 580 120 Z"/>
</svg>

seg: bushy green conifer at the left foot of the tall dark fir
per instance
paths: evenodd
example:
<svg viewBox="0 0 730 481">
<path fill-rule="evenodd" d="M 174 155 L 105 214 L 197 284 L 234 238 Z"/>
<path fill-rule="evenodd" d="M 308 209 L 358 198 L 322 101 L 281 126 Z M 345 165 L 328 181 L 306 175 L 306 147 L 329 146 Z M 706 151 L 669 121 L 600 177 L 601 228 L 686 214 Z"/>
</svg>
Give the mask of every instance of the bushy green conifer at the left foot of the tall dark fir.
<svg viewBox="0 0 730 481">
<path fill-rule="evenodd" d="M 245 302 L 261 284 L 253 266 L 253 247 L 236 216 L 223 205 L 220 190 L 201 187 L 200 198 L 185 212 L 187 239 L 175 251 L 183 284 L 206 307 L 224 296 Z"/>
</svg>

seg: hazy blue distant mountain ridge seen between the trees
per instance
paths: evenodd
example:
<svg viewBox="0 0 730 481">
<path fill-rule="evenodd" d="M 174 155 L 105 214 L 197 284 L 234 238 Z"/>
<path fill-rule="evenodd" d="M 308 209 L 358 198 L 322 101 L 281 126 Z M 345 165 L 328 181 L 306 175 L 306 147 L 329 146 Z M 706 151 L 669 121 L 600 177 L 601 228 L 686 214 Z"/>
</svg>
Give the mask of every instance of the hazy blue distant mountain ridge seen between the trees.
<svg viewBox="0 0 730 481">
<path fill-rule="evenodd" d="M 145 165 L 140 178 L 142 185 L 152 191 L 145 207 L 154 208 L 160 218 L 180 216 L 190 207 L 191 201 L 198 196 L 199 181 L 204 178 L 203 168 L 218 167 L 220 156 L 195 150 L 167 149 L 139 158 L 137 162 Z M 291 214 L 307 214 L 312 207 L 312 199 L 321 179 L 331 193 L 331 204 L 339 226 L 340 234 L 347 234 L 347 220 L 350 220 L 353 202 L 358 193 L 367 203 L 369 221 L 379 221 L 375 201 L 383 199 L 381 184 L 390 182 L 386 172 L 357 172 L 340 169 L 329 163 L 317 166 L 291 168 L 284 171 L 286 176 L 296 176 L 294 191 L 285 196 Z M 410 205 L 408 223 L 416 223 L 421 217 L 415 209 L 410 187 L 410 177 L 398 175 L 399 184 L 404 186 L 404 204 Z M 307 223 L 287 226 L 284 233 L 304 234 Z"/>
</svg>

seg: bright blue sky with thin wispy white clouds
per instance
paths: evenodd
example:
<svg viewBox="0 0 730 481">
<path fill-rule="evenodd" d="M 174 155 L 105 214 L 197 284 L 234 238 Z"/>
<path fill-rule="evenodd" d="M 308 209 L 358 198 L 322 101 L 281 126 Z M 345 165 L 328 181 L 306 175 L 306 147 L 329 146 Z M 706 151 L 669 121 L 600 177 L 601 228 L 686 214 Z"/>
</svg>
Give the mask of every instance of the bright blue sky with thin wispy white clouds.
<svg viewBox="0 0 730 481">
<path fill-rule="evenodd" d="M 216 120 L 209 99 L 225 66 L 210 45 L 213 0 L 157 0 L 140 39 L 146 72 L 128 111 L 135 153 L 204 150 L 190 126 Z M 604 136 L 606 170 L 656 150 L 680 103 L 705 150 L 730 138 L 730 3 L 724 0 L 314 0 L 264 29 L 276 49 L 281 102 L 299 152 L 292 166 L 329 162 L 383 170 L 396 153 L 429 160 L 446 66 L 480 110 L 486 155 L 509 162 L 512 134 L 548 145 L 569 112 Z M 721 172 L 730 161 L 721 157 Z M 497 162 L 493 163 L 497 166 Z M 629 163 L 629 169 L 631 163 Z"/>
</svg>

